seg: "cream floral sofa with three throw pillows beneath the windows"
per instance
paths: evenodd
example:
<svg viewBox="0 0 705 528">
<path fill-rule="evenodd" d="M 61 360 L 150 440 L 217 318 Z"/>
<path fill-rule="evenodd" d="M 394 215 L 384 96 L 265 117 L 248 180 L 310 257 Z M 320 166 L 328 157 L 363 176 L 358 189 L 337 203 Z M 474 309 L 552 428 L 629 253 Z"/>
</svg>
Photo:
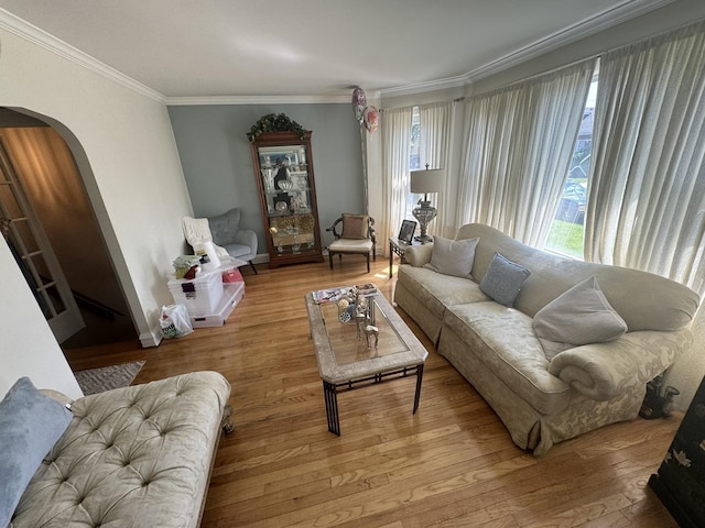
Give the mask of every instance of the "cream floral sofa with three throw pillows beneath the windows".
<svg viewBox="0 0 705 528">
<path fill-rule="evenodd" d="M 637 417 L 699 302 L 649 273 L 563 258 L 482 224 L 411 246 L 394 301 L 522 449 Z"/>
</svg>

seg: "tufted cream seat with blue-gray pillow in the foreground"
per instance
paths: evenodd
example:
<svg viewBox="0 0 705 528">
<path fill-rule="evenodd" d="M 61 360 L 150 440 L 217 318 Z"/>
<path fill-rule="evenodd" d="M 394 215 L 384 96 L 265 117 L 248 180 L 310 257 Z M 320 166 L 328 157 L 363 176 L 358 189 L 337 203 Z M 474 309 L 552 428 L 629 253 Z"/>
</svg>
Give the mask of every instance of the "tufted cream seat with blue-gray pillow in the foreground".
<svg viewBox="0 0 705 528">
<path fill-rule="evenodd" d="M 229 394 L 193 372 L 68 410 L 19 380 L 0 402 L 0 526 L 199 526 Z"/>
</svg>

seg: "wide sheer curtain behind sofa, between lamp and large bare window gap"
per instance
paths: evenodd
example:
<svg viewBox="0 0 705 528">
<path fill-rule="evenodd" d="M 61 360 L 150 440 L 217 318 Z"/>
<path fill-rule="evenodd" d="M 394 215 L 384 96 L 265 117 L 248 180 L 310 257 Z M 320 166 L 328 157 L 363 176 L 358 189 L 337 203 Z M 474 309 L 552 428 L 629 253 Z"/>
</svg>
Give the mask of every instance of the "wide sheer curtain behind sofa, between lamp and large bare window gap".
<svg viewBox="0 0 705 528">
<path fill-rule="evenodd" d="M 543 246 L 561 199 L 597 59 L 471 98 L 456 223 Z"/>
</svg>

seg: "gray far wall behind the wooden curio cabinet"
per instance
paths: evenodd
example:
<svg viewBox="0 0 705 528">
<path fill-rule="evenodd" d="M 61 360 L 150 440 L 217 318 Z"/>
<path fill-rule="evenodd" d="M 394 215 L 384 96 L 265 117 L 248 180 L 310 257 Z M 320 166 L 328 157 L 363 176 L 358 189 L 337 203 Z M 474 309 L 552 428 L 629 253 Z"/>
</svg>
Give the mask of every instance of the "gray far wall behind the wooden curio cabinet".
<svg viewBox="0 0 705 528">
<path fill-rule="evenodd" d="M 262 116 L 281 112 L 312 131 L 319 228 L 327 245 L 333 238 L 325 229 L 341 212 L 364 210 L 360 129 L 350 105 L 169 107 L 194 215 L 241 209 L 240 226 L 257 232 L 260 254 L 267 243 L 246 133 Z"/>
</svg>

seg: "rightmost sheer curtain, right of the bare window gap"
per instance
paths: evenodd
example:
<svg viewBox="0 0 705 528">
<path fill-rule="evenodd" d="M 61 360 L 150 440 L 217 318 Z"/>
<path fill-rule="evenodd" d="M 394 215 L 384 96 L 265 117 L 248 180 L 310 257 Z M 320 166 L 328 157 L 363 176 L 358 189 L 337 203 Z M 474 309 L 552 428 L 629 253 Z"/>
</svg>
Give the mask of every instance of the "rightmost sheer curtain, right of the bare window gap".
<svg viewBox="0 0 705 528">
<path fill-rule="evenodd" d="M 705 23 L 600 61 L 585 258 L 705 294 Z"/>
</svg>

